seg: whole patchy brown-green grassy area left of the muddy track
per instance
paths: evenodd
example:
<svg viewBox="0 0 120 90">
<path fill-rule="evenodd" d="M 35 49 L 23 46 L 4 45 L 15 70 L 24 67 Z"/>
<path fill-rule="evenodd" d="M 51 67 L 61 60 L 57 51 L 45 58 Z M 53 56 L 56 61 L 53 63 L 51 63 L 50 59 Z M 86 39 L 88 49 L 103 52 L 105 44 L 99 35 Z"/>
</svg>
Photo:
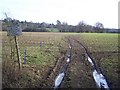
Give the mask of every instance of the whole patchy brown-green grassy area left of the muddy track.
<svg viewBox="0 0 120 90">
<path fill-rule="evenodd" d="M 55 61 L 61 56 L 59 47 L 63 38 L 64 34 L 61 33 L 24 32 L 18 37 L 22 61 L 22 71 L 19 72 L 16 54 L 14 59 L 11 59 L 9 38 L 6 32 L 2 32 L 3 87 L 37 86 L 48 69 L 53 67 Z M 16 53 L 14 40 L 12 46 Z M 25 49 L 26 64 L 23 64 Z M 18 80 L 19 78 L 21 79 Z"/>
</svg>

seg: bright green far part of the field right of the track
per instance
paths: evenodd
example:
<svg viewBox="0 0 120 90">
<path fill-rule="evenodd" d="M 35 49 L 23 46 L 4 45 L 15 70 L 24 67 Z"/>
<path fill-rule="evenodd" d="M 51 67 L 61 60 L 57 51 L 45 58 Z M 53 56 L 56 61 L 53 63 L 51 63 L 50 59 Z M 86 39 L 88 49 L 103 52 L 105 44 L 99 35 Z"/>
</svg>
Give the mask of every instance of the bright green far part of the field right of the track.
<svg viewBox="0 0 120 90">
<path fill-rule="evenodd" d="M 108 33 L 82 33 L 80 40 L 92 52 L 118 51 L 118 34 Z"/>
</svg>

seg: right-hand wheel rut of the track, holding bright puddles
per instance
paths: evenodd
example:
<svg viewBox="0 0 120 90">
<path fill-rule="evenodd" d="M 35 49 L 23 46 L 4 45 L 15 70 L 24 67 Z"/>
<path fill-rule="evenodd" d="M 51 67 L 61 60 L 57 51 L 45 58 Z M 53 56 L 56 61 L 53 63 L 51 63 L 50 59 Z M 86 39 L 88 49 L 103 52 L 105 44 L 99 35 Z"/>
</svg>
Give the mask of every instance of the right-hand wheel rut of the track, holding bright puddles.
<svg viewBox="0 0 120 90">
<path fill-rule="evenodd" d="M 103 74 L 101 68 L 98 67 L 95 60 L 90 56 L 90 53 L 88 52 L 86 47 L 80 41 L 78 41 L 76 39 L 74 39 L 74 40 L 84 49 L 85 58 L 87 58 L 87 61 L 90 63 L 90 65 L 93 68 L 93 69 L 91 69 L 91 71 L 92 71 L 92 75 L 93 75 L 96 86 L 100 89 L 109 90 L 110 88 L 109 88 L 108 80 L 106 79 L 105 75 Z"/>
</svg>

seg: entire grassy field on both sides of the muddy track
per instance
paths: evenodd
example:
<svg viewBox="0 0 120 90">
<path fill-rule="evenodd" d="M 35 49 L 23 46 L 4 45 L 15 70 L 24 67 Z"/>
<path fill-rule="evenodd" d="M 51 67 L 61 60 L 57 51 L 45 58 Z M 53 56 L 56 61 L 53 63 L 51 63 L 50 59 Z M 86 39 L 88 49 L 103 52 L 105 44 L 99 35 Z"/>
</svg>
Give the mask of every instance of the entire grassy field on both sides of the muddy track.
<svg viewBox="0 0 120 90">
<path fill-rule="evenodd" d="M 6 32 L 2 32 L 2 59 L 3 59 L 3 86 L 4 87 L 35 87 L 40 82 L 38 79 L 53 67 L 55 61 L 65 52 L 67 44 L 64 37 L 77 37 L 85 45 L 92 57 L 95 58 L 103 68 L 109 80 L 118 79 L 118 34 L 108 33 L 39 33 L 23 32 L 18 37 L 22 63 L 24 50 L 26 49 L 27 64 L 22 64 L 22 73 L 17 74 L 16 55 L 14 60 L 10 59 L 10 44 Z M 13 45 L 14 46 L 14 45 Z M 64 48 L 60 48 L 64 46 Z M 12 64 L 10 64 L 12 62 Z M 12 73 L 15 73 L 14 77 Z M 41 72 L 41 73 L 40 73 Z M 7 77 L 13 77 L 9 79 Z M 20 79 L 21 78 L 21 79 Z M 12 83 L 11 81 L 12 80 Z M 17 82 L 17 80 L 19 82 Z M 112 83 L 112 80 L 110 83 Z M 24 83 L 25 84 L 24 84 Z M 113 83 L 113 87 L 117 83 Z"/>
</svg>

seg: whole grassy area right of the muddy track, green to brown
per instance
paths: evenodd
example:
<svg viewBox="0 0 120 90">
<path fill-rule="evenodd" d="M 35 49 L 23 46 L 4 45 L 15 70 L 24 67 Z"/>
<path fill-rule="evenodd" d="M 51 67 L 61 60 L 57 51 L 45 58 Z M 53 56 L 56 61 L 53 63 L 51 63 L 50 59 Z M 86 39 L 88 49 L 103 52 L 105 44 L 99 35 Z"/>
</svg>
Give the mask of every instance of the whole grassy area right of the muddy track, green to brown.
<svg viewBox="0 0 120 90">
<path fill-rule="evenodd" d="M 120 34 L 119 34 L 120 35 Z M 82 33 L 79 38 L 91 52 L 96 62 L 100 61 L 100 67 L 107 76 L 111 88 L 119 87 L 118 76 L 120 64 L 118 60 L 118 34 L 110 33 Z M 102 55 L 100 55 L 101 52 Z"/>
</svg>

